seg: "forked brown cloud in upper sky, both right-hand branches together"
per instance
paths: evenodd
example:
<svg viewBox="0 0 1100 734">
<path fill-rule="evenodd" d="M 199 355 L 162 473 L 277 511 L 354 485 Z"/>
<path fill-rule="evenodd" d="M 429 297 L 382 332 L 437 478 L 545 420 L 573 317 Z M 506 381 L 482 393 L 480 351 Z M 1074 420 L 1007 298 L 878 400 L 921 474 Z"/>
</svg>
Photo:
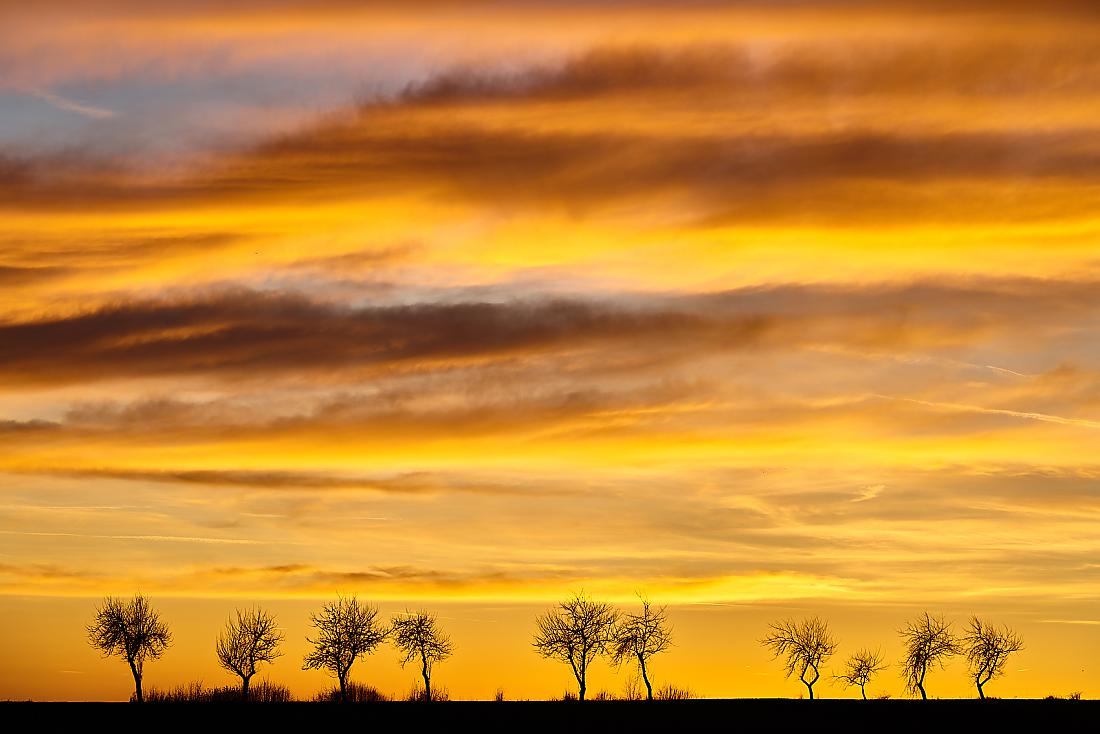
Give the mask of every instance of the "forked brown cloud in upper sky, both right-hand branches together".
<svg viewBox="0 0 1100 734">
<path fill-rule="evenodd" d="M 860 95 L 912 99 L 997 98 L 1024 92 L 1089 95 L 1100 85 L 1094 42 L 1062 46 L 865 50 L 838 54 L 802 48 L 761 62 L 736 47 L 607 48 L 563 66 L 512 75 L 457 70 L 410 87 L 396 99 L 373 100 L 226 157 L 185 179 L 127 173 L 111 162 L 63 154 L 0 158 L 0 207 L 143 210 L 217 202 L 308 204 L 405 193 L 482 206 L 566 206 L 690 195 L 711 216 L 754 218 L 855 217 L 845 186 L 856 186 L 862 216 L 950 217 L 934 190 L 901 193 L 883 184 L 930 189 L 936 183 L 1005 186 L 964 196 L 956 217 L 991 219 L 1057 216 L 1042 187 L 1100 178 L 1097 131 L 1085 123 L 1040 129 L 886 131 L 847 123 L 835 131 L 717 134 L 678 130 L 642 134 L 606 129 L 576 132 L 487 125 L 451 119 L 451 107 L 506 100 L 509 109 L 561 99 L 616 105 L 624 96 L 669 92 L 678 113 L 758 108 L 779 114 L 810 95 L 851 100 Z M 769 101 L 770 100 L 770 101 Z M 537 109 L 537 107 L 535 108 Z M 600 112 L 594 107 L 594 114 Z M 832 109 L 828 107 L 826 109 Z M 427 111 L 427 114 L 425 112 Z M 512 113 L 512 112 L 509 112 Z M 520 119 L 522 117 L 520 116 Z M 934 200 L 926 200 L 932 196 Z M 950 195 L 959 198 L 958 191 Z M 1072 211 L 1094 208 L 1088 189 Z M 792 206 L 798 201 L 798 207 Z M 1030 204 L 1031 201 L 1031 204 Z M 846 206 L 846 204 L 848 206 Z"/>
</svg>

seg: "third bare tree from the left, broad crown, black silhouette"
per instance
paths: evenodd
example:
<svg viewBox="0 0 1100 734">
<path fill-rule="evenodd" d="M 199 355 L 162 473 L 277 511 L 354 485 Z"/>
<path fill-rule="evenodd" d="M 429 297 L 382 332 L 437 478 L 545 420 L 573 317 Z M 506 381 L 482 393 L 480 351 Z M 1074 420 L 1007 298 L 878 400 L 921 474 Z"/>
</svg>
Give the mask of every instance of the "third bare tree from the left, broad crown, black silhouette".
<svg viewBox="0 0 1100 734">
<path fill-rule="evenodd" d="M 310 616 L 317 637 L 306 637 L 314 649 L 302 670 L 326 670 L 340 681 L 340 700 L 348 699 L 348 673 L 361 656 L 370 655 L 386 639 L 389 629 L 378 622 L 378 610 L 352 596 L 329 602 Z"/>
</svg>

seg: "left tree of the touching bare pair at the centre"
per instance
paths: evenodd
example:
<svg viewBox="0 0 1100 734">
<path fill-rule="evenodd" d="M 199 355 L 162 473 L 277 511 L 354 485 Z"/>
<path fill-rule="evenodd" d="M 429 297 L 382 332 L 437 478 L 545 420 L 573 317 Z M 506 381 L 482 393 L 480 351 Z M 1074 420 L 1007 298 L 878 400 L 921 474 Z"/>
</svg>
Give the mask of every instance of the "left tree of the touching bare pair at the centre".
<svg viewBox="0 0 1100 734">
<path fill-rule="evenodd" d="M 558 604 L 535 620 L 535 650 L 544 658 L 568 662 L 576 678 L 580 700 L 584 700 L 588 665 L 609 651 L 618 611 L 608 603 L 594 602 L 584 593 Z"/>
</svg>

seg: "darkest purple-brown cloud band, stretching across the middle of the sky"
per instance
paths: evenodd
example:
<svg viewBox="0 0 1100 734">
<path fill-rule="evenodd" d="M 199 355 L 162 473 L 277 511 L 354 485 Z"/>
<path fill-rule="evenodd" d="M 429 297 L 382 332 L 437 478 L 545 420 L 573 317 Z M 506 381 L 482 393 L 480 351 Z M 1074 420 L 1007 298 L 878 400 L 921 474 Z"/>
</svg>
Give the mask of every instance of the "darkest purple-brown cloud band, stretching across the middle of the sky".
<svg viewBox="0 0 1100 734">
<path fill-rule="evenodd" d="M 1098 293 L 1089 281 L 1015 280 L 356 308 L 234 289 L 0 322 L 0 384 L 302 371 L 354 377 L 624 349 L 666 358 L 807 344 L 942 349 L 1055 319 L 1087 325 Z"/>
</svg>

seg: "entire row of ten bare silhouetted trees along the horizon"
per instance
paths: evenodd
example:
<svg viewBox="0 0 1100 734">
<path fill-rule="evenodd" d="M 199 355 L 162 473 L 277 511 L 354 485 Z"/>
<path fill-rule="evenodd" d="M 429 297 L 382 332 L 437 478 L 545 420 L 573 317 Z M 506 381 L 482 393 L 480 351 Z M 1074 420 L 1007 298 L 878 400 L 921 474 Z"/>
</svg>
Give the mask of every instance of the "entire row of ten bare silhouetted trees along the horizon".
<svg viewBox="0 0 1100 734">
<path fill-rule="evenodd" d="M 400 665 L 416 662 L 424 679 L 424 698 L 432 700 L 431 672 L 437 662 L 454 649 L 450 637 L 440 629 L 429 612 L 395 615 L 387 624 L 372 604 L 354 596 L 340 598 L 312 615 L 316 631 L 306 640 L 312 646 L 302 661 L 304 669 L 323 670 L 340 686 L 340 700 L 346 700 L 348 678 L 358 659 L 392 640 L 402 658 Z M 667 609 L 653 607 L 641 598 L 641 613 L 627 614 L 606 602 L 596 602 L 583 593 L 574 594 L 557 607 L 536 617 L 535 650 L 544 658 L 570 666 L 576 679 L 578 694 L 584 700 L 588 666 L 606 657 L 617 668 L 636 667 L 646 684 L 646 697 L 653 699 L 649 664 L 653 656 L 672 646 L 672 626 Z M 986 698 L 985 686 L 1004 673 L 1009 656 L 1023 649 L 1020 636 L 1007 626 L 996 627 L 970 617 L 966 631 L 956 636 L 943 616 L 927 612 L 900 631 L 905 654 L 901 660 L 905 688 L 927 699 L 924 688 L 928 671 L 943 668 L 955 655 L 965 655 L 978 695 Z M 260 607 L 237 610 L 218 637 L 215 651 L 219 664 L 241 679 L 241 695 L 249 698 L 249 684 L 263 664 L 282 655 L 284 634 L 273 614 Z M 125 602 L 108 598 L 96 610 L 88 626 L 89 643 L 107 656 L 127 661 L 134 677 L 135 697 L 142 701 L 142 668 L 145 660 L 160 658 L 172 644 L 172 634 L 142 595 Z M 777 659 L 782 658 L 787 677 L 798 673 L 814 698 L 814 684 L 821 679 L 825 662 L 836 653 L 837 642 L 828 623 L 813 616 L 785 620 L 770 625 L 761 640 Z M 882 654 L 867 648 L 857 650 L 834 676 L 848 687 L 858 687 L 864 699 L 867 686 L 886 668 Z"/>
</svg>

